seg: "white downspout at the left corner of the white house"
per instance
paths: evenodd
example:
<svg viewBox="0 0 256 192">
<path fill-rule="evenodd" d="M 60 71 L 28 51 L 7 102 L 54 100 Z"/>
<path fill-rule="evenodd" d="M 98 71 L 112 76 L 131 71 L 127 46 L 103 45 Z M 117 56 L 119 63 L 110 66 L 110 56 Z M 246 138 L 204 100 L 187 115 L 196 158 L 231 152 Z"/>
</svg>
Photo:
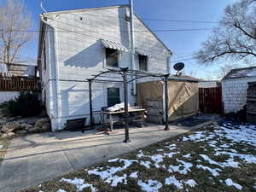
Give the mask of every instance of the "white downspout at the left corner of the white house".
<svg viewBox="0 0 256 192">
<path fill-rule="evenodd" d="M 46 20 L 44 20 L 44 14 L 40 15 L 40 19 L 42 20 L 42 22 L 44 22 L 45 25 L 47 26 L 51 26 Z M 55 27 L 51 26 L 53 29 L 53 33 L 54 33 L 54 39 L 56 39 L 56 31 L 55 31 Z M 57 44 L 56 44 L 56 40 L 54 40 L 54 44 L 55 44 L 55 86 L 56 86 L 56 119 L 57 119 L 57 125 L 58 125 L 58 130 L 61 130 L 61 118 L 60 118 L 60 86 L 59 86 L 59 62 L 57 59 L 57 54 L 56 54 L 56 48 L 57 48 Z"/>
</svg>

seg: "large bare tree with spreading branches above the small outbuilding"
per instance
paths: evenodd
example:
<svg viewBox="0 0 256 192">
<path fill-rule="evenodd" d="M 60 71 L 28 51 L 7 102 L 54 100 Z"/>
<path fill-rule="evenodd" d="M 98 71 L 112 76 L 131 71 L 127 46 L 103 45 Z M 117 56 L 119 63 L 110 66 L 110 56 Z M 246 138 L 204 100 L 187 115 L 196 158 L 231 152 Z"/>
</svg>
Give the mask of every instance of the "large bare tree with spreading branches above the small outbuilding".
<svg viewBox="0 0 256 192">
<path fill-rule="evenodd" d="M 218 27 L 195 53 L 201 63 L 221 58 L 256 61 L 256 0 L 228 6 Z"/>
</svg>

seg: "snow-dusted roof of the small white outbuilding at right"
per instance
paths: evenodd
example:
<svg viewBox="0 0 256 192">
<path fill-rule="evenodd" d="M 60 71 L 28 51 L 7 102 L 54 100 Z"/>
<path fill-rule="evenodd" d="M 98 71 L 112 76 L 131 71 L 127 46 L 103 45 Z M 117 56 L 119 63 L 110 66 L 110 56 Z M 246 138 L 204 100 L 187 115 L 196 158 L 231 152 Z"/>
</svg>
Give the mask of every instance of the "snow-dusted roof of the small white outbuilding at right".
<svg viewBox="0 0 256 192">
<path fill-rule="evenodd" d="M 231 69 L 230 72 L 226 74 L 222 80 L 247 77 L 256 77 L 256 67 Z"/>
</svg>

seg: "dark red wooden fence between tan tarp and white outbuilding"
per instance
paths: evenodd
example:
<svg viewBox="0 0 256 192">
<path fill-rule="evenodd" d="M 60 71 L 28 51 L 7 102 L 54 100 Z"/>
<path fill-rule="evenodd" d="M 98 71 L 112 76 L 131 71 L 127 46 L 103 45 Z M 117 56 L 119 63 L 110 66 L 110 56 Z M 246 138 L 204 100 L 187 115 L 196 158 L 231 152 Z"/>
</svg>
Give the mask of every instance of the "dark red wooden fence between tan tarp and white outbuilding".
<svg viewBox="0 0 256 192">
<path fill-rule="evenodd" d="M 221 87 L 199 88 L 199 108 L 202 113 L 222 113 Z"/>
</svg>

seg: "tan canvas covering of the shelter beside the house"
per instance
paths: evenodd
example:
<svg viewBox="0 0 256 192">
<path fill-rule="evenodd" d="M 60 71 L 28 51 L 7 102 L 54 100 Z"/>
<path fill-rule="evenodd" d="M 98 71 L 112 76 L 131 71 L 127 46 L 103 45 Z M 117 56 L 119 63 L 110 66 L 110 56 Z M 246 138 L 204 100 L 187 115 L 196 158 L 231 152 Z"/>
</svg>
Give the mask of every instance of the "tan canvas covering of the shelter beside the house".
<svg viewBox="0 0 256 192">
<path fill-rule="evenodd" d="M 148 108 L 148 100 L 159 100 L 164 103 L 164 82 L 150 81 L 137 84 L 137 102 Z M 198 112 L 198 83 L 186 80 L 168 81 L 168 118 L 169 121 L 186 118 Z M 164 104 L 159 105 L 165 108 Z M 149 113 L 150 115 L 150 113 Z"/>
</svg>

